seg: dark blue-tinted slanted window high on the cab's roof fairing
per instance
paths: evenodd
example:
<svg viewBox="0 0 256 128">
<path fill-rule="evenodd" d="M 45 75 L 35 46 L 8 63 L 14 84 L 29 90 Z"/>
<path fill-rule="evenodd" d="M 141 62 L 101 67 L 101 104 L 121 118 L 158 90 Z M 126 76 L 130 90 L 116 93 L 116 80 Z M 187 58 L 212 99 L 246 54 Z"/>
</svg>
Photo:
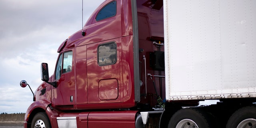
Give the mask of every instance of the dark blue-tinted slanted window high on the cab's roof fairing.
<svg viewBox="0 0 256 128">
<path fill-rule="evenodd" d="M 110 18 L 116 15 L 116 1 L 110 2 L 104 6 L 96 16 L 96 21 Z"/>
</svg>

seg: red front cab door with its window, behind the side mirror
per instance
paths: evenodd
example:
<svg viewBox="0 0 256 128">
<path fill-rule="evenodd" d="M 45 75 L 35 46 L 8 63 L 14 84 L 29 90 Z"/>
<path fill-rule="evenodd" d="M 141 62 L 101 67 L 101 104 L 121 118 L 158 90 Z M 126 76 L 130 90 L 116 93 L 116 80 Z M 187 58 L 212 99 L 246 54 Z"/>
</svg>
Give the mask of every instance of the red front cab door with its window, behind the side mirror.
<svg viewBox="0 0 256 128">
<path fill-rule="evenodd" d="M 75 104 L 74 69 L 74 49 L 60 53 L 54 73 L 56 88 L 52 87 L 53 106 Z"/>
</svg>

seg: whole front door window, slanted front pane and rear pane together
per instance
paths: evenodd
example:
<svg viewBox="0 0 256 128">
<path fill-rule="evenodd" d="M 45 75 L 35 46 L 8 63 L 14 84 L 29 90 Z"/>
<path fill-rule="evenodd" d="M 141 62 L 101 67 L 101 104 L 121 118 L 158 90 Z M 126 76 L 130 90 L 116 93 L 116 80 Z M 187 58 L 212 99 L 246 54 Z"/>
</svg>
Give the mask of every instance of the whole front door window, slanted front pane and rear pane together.
<svg viewBox="0 0 256 128">
<path fill-rule="evenodd" d="M 72 71 L 72 51 L 71 52 L 65 52 L 64 54 L 61 54 L 58 63 L 55 69 L 55 79 L 60 79 L 60 75 L 62 73 L 70 72 Z"/>
</svg>

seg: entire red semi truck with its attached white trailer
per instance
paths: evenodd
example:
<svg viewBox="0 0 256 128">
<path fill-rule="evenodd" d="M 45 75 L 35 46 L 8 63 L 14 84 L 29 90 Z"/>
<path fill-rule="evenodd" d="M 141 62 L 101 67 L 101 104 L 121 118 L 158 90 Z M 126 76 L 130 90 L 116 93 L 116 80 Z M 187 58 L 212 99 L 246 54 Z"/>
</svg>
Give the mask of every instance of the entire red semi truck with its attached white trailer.
<svg viewBox="0 0 256 128">
<path fill-rule="evenodd" d="M 255 12 L 255 0 L 106 0 L 52 76 L 42 63 L 24 127 L 255 128 Z"/>
</svg>

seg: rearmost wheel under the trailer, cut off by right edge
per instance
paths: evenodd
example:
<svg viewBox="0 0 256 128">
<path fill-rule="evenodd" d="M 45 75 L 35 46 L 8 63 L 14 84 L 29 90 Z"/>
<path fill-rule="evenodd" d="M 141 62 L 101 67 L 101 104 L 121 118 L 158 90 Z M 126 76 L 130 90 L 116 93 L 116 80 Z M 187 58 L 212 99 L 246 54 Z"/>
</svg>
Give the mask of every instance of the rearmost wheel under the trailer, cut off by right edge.
<svg viewBox="0 0 256 128">
<path fill-rule="evenodd" d="M 230 116 L 226 128 L 256 128 L 256 106 L 238 109 Z"/>
</svg>

